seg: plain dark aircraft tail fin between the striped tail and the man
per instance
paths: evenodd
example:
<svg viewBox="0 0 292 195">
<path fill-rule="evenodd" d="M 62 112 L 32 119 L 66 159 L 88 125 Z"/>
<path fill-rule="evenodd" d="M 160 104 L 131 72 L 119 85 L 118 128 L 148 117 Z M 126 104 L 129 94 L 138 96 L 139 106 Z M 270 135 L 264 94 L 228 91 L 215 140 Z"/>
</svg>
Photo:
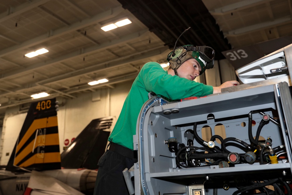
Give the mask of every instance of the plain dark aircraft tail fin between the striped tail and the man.
<svg viewBox="0 0 292 195">
<path fill-rule="evenodd" d="M 112 117 L 92 120 L 87 127 L 62 152 L 63 168 L 97 169 L 99 158 L 105 152 Z"/>
</svg>

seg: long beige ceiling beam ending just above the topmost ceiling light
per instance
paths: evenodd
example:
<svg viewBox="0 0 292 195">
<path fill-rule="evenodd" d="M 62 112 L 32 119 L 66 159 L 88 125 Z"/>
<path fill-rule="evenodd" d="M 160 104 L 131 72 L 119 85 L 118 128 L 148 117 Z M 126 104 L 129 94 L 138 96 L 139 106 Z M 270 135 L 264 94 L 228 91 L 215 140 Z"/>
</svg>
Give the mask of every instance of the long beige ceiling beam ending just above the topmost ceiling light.
<svg viewBox="0 0 292 195">
<path fill-rule="evenodd" d="M 79 29 L 84 28 L 86 26 L 96 24 L 102 20 L 108 20 L 110 18 L 115 17 L 123 10 L 124 9 L 122 7 L 115 7 L 115 8 L 109 9 L 105 12 L 102 12 L 100 14 L 97 14 L 97 15 L 93 16 L 92 18 L 82 20 L 81 22 L 80 21 L 76 22 L 76 23 L 70 25 L 69 27 L 65 26 L 65 27 L 59 28 L 57 30 L 51 30 L 49 33 L 46 33 L 46 34 L 40 35 L 38 37 L 35 37 L 33 39 L 27 40 L 25 42 L 22 42 L 19 45 L 11 46 L 11 47 L 8 47 L 6 49 L 1 50 L 0 57 L 3 57 L 5 55 L 11 54 L 13 52 L 19 51 L 21 49 L 25 49 L 27 47 L 31 47 L 31 46 L 46 42 L 50 39 L 56 38 L 56 37 L 61 36 L 63 34 L 67 34 L 69 32 L 79 30 Z"/>
</svg>

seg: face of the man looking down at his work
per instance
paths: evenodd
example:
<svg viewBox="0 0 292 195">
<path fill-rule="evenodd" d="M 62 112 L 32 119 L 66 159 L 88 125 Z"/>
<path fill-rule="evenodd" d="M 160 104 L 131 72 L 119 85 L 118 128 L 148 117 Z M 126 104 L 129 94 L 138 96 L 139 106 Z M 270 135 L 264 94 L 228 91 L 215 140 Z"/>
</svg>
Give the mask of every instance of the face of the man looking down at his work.
<svg viewBox="0 0 292 195">
<path fill-rule="evenodd" d="M 186 78 L 188 80 L 194 80 L 197 76 L 200 75 L 202 68 L 198 61 L 194 58 L 185 61 L 180 67 L 177 69 L 178 75 L 180 77 Z"/>
</svg>

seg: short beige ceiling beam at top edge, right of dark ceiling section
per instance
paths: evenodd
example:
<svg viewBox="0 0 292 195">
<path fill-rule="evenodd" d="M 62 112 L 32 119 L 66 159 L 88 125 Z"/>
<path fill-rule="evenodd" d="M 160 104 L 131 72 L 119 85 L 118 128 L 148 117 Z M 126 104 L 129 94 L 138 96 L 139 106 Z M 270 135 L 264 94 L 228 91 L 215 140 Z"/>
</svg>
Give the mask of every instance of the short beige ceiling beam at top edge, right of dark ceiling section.
<svg viewBox="0 0 292 195">
<path fill-rule="evenodd" d="M 220 7 L 220 8 L 216 8 L 216 9 L 211 10 L 209 12 L 211 13 L 211 15 L 224 15 L 224 14 L 231 13 L 231 12 L 234 12 L 234 11 L 240 11 L 242 9 L 253 7 L 253 6 L 256 6 L 256 5 L 259 5 L 259 4 L 263 4 L 263 3 L 266 3 L 268 1 L 272 1 L 272 0 L 253 0 L 253 1 L 245 0 L 245 1 L 239 1 L 239 2 L 234 3 L 234 4 L 230 4 L 230 5 L 227 5 L 227 6 Z"/>
</svg>

